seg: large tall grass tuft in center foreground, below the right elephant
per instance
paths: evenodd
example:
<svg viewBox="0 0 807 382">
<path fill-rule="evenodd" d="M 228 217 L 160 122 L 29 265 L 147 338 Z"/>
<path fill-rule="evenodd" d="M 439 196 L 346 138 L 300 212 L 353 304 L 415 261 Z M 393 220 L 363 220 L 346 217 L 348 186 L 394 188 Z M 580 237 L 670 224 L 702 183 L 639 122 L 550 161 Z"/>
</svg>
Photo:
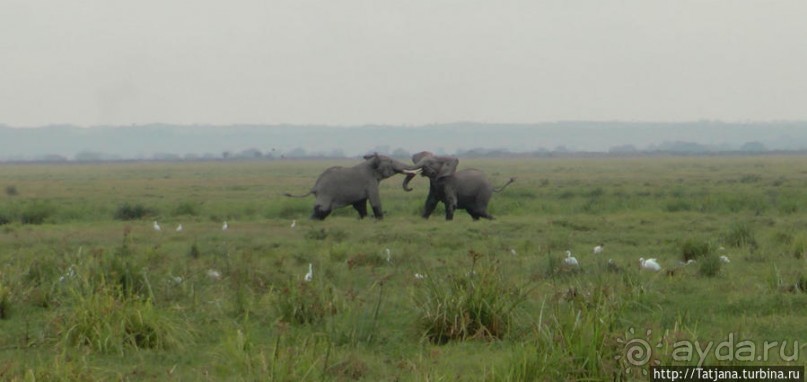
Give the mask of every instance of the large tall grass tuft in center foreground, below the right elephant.
<svg viewBox="0 0 807 382">
<path fill-rule="evenodd" d="M 495 260 L 478 264 L 472 259 L 466 275 L 426 278 L 417 291 L 418 327 L 432 343 L 467 339 L 500 339 L 510 330 L 513 311 L 526 291 L 509 285 Z"/>
</svg>

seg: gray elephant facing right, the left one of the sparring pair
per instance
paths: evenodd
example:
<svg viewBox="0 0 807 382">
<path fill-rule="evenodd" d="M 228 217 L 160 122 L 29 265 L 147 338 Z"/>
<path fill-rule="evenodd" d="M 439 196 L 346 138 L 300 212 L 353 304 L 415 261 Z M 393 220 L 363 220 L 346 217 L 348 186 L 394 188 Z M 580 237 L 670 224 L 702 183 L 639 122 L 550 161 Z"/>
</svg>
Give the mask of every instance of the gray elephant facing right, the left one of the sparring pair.
<svg viewBox="0 0 807 382">
<path fill-rule="evenodd" d="M 303 198 L 313 194 L 317 199 L 311 219 L 324 220 L 334 208 L 352 205 L 359 213 L 359 219 L 367 216 L 367 200 L 373 207 L 373 216 L 381 220 L 381 197 L 378 184 L 395 174 L 415 173 L 411 166 L 377 153 L 364 156 L 364 162 L 353 167 L 335 166 L 325 170 L 314 187 L 307 194 L 284 195 Z"/>
</svg>

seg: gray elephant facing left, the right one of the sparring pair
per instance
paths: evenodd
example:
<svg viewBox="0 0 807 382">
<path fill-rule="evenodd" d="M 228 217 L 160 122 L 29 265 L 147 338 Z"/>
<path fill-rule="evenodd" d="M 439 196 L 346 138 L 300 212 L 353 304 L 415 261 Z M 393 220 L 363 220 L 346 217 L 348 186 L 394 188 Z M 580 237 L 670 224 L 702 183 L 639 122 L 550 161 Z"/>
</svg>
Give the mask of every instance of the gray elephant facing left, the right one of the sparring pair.
<svg viewBox="0 0 807 382">
<path fill-rule="evenodd" d="M 412 155 L 412 162 L 415 163 L 412 169 L 420 170 L 421 175 L 429 178 L 429 195 L 421 215 L 426 219 L 434 212 L 438 202 L 445 205 L 446 220 L 454 219 L 454 210 L 457 208 L 467 211 L 474 220 L 493 219 L 487 212 L 490 197 L 515 181 L 515 178 L 510 178 L 504 186 L 493 188 L 482 171 L 457 171 L 459 159 L 437 156 L 428 151 Z M 407 173 L 403 182 L 404 190 L 412 191 L 409 182 L 414 176 L 415 174 Z"/>
</svg>

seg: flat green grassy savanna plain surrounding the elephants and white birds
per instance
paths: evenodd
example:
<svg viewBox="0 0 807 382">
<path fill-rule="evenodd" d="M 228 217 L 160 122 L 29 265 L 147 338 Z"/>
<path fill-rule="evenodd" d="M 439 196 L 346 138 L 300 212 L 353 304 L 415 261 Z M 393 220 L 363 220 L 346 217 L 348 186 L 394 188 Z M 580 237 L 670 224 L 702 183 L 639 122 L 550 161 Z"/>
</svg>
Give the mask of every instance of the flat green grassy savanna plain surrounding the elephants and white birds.
<svg viewBox="0 0 807 382">
<path fill-rule="evenodd" d="M 493 221 L 420 218 L 421 177 L 381 184 L 382 221 L 311 221 L 313 196 L 282 196 L 358 161 L 1 165 L 0 380 L 807 364 L 805 156 L 461 158 L 494 185 L 518 178 Z"/>
</svg>

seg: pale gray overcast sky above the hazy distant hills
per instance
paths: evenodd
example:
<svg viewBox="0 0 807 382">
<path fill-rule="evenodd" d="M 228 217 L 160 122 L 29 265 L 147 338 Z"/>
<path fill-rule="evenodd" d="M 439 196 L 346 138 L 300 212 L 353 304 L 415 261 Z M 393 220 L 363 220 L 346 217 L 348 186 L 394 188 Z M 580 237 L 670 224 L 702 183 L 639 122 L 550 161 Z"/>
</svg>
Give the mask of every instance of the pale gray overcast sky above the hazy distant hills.
<svg viewBox="0 0 807 382">
<path fill-rule="evenodd" d="M 807 1 L 0 0 L 0 123 L 807 119 Z"/>
</svg>

